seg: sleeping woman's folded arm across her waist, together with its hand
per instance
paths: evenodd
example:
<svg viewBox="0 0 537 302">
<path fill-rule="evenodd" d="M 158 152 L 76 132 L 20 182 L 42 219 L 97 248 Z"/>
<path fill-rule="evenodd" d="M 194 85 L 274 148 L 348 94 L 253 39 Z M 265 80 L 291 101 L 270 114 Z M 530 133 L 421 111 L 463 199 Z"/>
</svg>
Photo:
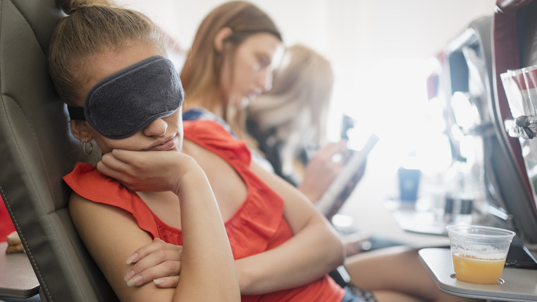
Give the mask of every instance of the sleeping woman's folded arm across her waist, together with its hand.
<svg viewBox="0 0 537 302">
<path fill-rule="evenodd" d="M 341 241 L 304 194 L 255 163 L 251 168 L 284 198 L 284 218 L 293 237 L 273 250 L 235 261 L 241 294 L 264 294 L 304 285 L 343 263 Z M 134 276 L 140 276 L 137 284 L 157 279 L 161 288 L 176 285 L 180 279 L 176 270 L 180 267 L 180 253 L 172 248 L 151 243 L 136 250 L 133 271 Z M 176 272 L 170 273 L 173 268 Z"/>
</svg>

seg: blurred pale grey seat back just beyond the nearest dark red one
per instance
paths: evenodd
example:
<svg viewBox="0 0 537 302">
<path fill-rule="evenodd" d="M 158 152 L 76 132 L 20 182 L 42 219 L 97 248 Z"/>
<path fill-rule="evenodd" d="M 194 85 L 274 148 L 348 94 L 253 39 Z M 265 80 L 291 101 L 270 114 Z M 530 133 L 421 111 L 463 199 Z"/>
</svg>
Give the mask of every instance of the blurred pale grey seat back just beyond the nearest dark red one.
<svg viewBox="0 0 537 302">
<path fill-rule="evenodd" d="M 492 14 L 474 19 L 436 56 L 453 165 L 465 167 L 464 181 L 450 193 L 470 194 L 476 212 L 472 223 L 513 229 L 504 201 L 520 199 L 520 190 L 510 192 L 516 170 L 506 166 L 509 154 L 500 147 L 494 125 L 491 41 Z"/>
</svg>

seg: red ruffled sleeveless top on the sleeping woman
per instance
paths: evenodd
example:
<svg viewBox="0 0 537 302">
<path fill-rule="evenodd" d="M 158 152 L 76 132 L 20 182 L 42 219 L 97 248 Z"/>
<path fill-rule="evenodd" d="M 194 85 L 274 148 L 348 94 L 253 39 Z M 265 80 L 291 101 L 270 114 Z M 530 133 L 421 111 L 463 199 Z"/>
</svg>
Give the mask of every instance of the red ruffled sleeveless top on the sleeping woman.
<svg viewBox="0 0 537 302">
<path fill-rule="evenodd" d="M 246 184 L 248 193 L 238 210 L 225 222 L 235 259 L 271 250 L 293 236 L 283 217 L 284 201 L 250 169 L 250 152 L 243 141 L 233 139 L 213 121 L 185 121 L 185 139 L 214 152 L 227 161 Z M 74 192 L 85 199 L 114 205 L 132 214 L 152 238 L 182 244 L 181 230 L 162 222 L 136 192 L 106 177 L 88 163 L 77 163 L 63 177 Z M 98 190 L 96 190 L 98 188 Z M 242 301 L 341 301 L 345 292 L 328 275 L 306 285 L 268 294 L 242 296 Z"/>
</svg>

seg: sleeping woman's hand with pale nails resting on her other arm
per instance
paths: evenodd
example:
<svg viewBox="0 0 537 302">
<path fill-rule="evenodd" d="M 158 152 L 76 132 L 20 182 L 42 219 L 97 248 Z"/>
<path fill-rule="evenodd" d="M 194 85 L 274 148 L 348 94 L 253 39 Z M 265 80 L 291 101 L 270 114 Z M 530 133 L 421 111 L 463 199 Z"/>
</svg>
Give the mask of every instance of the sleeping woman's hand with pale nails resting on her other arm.
<svg viewBox="0 0 537 302">
<path fill-rule="evenodd" d="M 159 288 L 176 288 L 181 272 L 181 245 L 155 238 L 153 243 L 132 253 L 127 264 L 134 263 L 125 275 L 129 286 L 140 286 L 154 281 Z"/>
</svg>

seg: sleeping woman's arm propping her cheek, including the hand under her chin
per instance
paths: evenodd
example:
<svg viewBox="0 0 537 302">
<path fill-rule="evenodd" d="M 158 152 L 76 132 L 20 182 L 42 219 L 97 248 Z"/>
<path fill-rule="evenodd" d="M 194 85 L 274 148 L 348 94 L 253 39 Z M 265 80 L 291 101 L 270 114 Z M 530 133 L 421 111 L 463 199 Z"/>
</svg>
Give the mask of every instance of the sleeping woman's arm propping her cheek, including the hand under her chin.
<svg viewBox="0 0 537 302">
<path fill-rule="evenodd" d="M 196 161 L 178 152 L 114 150 L 97 167 L 132 190 L 173 191 L 180 203 L 181 275 L 173 287 L 162 290 L 154 283 L 129 287 L 124 279 L 134 266 L 126 263 L 132 251 L 160 242 L 152 241 L 126 211 L 72 194 L 76 230 L 121 301 L 240 301 L 218 204 Z"/>
</svg>

